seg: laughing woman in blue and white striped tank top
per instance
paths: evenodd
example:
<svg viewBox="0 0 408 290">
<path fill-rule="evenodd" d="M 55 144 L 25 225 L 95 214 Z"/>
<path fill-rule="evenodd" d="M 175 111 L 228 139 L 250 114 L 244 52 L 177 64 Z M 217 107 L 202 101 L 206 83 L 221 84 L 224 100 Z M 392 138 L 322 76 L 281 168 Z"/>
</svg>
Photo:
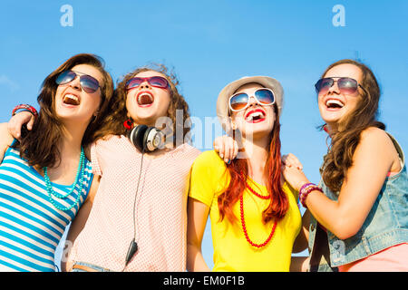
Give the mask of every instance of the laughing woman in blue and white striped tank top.
<svg viewBox="0 0 408 290">
<path fill-rule="evenodd" d="M 54 271 L 54 251 L 90 190 L 84 148 L 112 97 L 113 82 L 92 54 L 48 75 L 31 131 L 14 140 L 0 124 L 0 270 Z"/>
</svg>

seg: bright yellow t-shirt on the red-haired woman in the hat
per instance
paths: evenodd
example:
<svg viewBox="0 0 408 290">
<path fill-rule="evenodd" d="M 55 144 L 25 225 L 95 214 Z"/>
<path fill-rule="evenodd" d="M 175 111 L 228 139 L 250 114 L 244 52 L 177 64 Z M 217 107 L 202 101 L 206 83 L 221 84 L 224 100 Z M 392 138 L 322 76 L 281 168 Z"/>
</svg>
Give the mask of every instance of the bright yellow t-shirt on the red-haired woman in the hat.
<svg viewBox="0 0 408 290">
<path fill-rule="evenodd" d="M 233 206 L 237 218 L 231 223 L 227 217 L 219 222 L 219 194 L 228 188 L 229 173 L 226 164 L 214 150 L 201 153 L 194 161 L 191 171 L 189 197 L 209 206 L 211 235 L 214 247 L 213 271 L 288 271 L 292 247 L 301 227 L 301 215 L 297 208 L 297 192 L 287 183 L 283 185 L 289 199 L 285 218 L 277 222 L 275 234 L 265 247 L 249 245 L 240 222 L 239 200 Z M 252 179 L 248 184 L 257 193 L 267 196 L 267 187 Z M 269 204 L 268 199 L 255 196 L 248 189 L 244 195 L 244 218 L 248 237 L 262 244 L 269 237 L 274 220 L 264 225 L 262 212 Z"/>
</svg>

